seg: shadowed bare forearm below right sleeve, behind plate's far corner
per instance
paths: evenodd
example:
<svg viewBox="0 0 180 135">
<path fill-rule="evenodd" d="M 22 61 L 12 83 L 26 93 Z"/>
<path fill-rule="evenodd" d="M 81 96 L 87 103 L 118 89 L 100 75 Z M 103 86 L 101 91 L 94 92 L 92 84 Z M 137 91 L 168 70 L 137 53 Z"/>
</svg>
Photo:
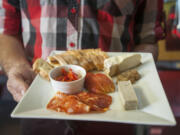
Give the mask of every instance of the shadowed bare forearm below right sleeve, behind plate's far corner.
<svg viewBox="0 0 180 135">
<path fill-rule="evenodd" d="M 158 46 L 156 44 L 140 44 L 134 49 L 134 52 L 149 52 L 152 53 L 154 60 L 158 58 Z"/>
</svg>

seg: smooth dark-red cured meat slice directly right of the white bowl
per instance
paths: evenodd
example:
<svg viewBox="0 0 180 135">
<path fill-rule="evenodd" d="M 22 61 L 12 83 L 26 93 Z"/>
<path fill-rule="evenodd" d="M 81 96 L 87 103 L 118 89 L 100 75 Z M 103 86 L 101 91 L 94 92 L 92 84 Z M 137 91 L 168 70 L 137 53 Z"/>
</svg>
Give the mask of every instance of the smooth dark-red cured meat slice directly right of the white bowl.
<svg viewBox="0 0 180 135">
<path fill-rule="evenodd" d="M 113 81 L 102 73 L 87 73 L 85 88 L 94 93 L 110 93 L 115 90 Z"/>
</svg>

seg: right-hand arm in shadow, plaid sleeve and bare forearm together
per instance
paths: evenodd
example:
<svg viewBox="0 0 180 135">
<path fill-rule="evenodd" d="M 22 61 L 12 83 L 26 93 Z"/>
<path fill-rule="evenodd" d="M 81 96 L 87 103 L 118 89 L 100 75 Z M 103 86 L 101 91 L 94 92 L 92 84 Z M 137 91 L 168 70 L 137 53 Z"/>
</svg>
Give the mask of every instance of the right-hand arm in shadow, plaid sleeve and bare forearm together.
<svg viewBox="0 0 180 135">
<path fill-rule="evenodd" d="M 161 27 L 162 0 L 144 0 L 135 17 L 134 51 L 150 52 L 155 61 L 158 58 L 157 41 L 163 37 Z"/>
</svg>

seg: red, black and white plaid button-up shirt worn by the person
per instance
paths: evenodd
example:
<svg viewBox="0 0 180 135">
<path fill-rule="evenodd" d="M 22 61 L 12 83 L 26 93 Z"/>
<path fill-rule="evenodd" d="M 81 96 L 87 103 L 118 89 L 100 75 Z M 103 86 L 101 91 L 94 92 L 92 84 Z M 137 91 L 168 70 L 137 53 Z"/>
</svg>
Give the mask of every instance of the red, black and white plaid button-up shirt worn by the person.
<svg viewBox="0 0 180 135">
<path fill-rule="evenodd" d="M 163 0 L 1 0 L 0 32 L 22 34 L 31 58 L 52 50 L 132 51 L 162 37 Z"/>
</svg>

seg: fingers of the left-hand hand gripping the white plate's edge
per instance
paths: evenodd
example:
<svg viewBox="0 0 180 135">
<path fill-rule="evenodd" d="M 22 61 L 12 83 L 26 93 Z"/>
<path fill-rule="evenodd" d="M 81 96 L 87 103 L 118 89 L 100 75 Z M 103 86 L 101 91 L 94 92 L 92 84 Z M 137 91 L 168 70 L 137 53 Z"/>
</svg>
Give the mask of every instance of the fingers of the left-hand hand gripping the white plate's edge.
<svg viewBox="0 0 180 135">
<path fill-rule="evenodd" d="M 29 84 L 25 82 L 22 77 L 13 76 L 9 78 L 7 82 L 7 88 L 17 102 L 20 101 L 28 87 Z"/>
</svg>

